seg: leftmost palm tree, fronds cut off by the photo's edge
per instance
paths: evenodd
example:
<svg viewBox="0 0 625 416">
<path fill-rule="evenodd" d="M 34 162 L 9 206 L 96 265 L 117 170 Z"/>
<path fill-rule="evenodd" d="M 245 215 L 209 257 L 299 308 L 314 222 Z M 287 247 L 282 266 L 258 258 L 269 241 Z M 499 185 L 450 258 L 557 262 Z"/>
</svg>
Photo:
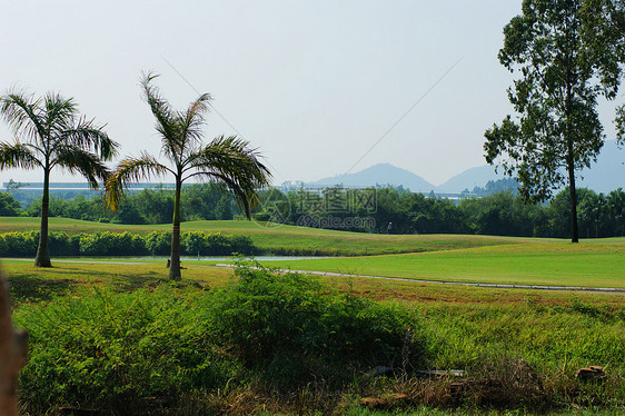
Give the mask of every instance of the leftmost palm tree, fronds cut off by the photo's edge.
<svg viewBox="0 0 625 416">
<path fill-rule="evenodd" d="M 102 127 L 93 126 L 93 120 L 79 115 L 72 98 L 66 99 L 56 92 L 34 99 L 23 91 L 9 91 L 0 97 L 0 115 L 16 135 L 12 143 L 0 142 L 0 169 L 43 170 L 41 229 L 34 266 L 51 267 L 48 248 L 50 172 L 61 168 L 82 175 L 97 189 L 109 175 L 103 161 L 116 155 L 118 145 Z M 24 142 L 19 141 L 20 137 Z"/>
</svg>

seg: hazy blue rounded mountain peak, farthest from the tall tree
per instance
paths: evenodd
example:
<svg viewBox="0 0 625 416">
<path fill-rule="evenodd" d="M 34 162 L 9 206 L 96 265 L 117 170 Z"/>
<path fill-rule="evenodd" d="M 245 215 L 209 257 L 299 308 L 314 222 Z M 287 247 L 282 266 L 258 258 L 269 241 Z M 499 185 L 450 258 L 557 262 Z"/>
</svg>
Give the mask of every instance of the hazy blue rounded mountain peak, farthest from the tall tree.
<svg viewBox="0 0 625 416">
<path fill-rule="evenodd" d="M 399 186 L 410 189 L 413 192 L 429 192 L 435 188 L 434 185 L 409 170 L 397 168 L 390 164 L 374 165 L 365 170 L 355 174 L 338 175 L 325 178 L 309 186 L 345 186 L 345 187 L 368 187 L 368 186 Z"/>
</svg>

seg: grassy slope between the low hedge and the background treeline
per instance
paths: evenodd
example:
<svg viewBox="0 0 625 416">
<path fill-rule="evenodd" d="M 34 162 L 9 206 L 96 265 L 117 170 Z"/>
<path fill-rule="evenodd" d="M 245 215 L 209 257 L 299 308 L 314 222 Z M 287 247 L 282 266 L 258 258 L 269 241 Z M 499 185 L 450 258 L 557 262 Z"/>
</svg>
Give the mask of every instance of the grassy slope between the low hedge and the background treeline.
<svg viewBox="0 0 625 416">
<path fill-rule="evenodd" d="M 51 231 L 137 232 L 147 235 L 155 229 L 169 230 L 170 225 L 130 226 L 50 218 Z M 181 225 L 183 231 L 244 234 L 265 252 L 279 255 L 366 256 L 398 252 L 437 251 L 457 248 L 497 246 L 537 241 L 536 239 L 459 235 L 378 235 L 334 231 L 294 226 L 268 227 L 255 221 L 190 221 Z M 39 218 L 0 217 L 0 232 L 39 229 Z"/>
</svg>

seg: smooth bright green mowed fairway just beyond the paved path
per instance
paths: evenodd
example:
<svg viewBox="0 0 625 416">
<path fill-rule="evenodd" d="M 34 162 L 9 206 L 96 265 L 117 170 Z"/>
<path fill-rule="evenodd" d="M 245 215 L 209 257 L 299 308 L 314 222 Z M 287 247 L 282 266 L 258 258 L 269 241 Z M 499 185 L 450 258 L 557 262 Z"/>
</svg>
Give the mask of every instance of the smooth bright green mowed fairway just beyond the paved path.
<svg viewBox="0 0 625 416">
<path fill-rule="evenodd" d="M 267 263 L 294 270 L 442 281 L 625 288 L 625 244 L 540 242 L 356 258 Z"/>
</svg>

